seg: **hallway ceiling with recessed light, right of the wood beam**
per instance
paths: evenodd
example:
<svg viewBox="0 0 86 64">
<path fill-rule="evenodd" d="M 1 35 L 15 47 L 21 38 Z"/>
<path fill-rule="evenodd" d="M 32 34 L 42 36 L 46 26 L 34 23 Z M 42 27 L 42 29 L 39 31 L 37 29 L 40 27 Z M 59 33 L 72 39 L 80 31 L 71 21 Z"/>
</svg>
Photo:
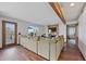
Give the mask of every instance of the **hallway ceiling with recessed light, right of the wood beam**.
<svg viewBox="0 0 86 64">
<path fill-rule="evenodd" d="M 84 2 L 60 2 L 60 4 L 61 4 L 65 21 L 73 22 L 78 18 L 78 15 L 81 14 L 85 3 Z"/>
</svg>

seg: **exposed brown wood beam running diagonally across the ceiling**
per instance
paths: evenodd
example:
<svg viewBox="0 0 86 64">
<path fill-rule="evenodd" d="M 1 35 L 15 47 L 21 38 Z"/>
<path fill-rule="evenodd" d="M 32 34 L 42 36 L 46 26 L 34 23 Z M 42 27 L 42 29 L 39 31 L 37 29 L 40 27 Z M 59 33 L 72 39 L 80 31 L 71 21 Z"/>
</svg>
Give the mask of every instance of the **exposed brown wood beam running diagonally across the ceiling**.
<svg viewBox="0 0 86 64">
<path fill-rule="evenodd" d="M 60 4 L 58 2 L 49 2 L 49 4 L 54 10 L 57 15 L 61 18 L 61 21 L 65 24 L 65 20 L 64 20 Z"/>
</svg>

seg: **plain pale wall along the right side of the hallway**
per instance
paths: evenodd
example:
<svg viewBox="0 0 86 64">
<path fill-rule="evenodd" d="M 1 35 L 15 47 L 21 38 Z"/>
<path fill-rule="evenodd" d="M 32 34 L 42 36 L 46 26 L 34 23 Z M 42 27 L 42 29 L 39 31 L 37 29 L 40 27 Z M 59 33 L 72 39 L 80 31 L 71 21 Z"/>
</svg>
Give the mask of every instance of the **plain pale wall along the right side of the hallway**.
<svg viewBox="0 0 86 64">
<path fill-rule="evenodd" d="M 86 60 L 86 8 L 78 18 L 78 48 Z"/>
</svg>

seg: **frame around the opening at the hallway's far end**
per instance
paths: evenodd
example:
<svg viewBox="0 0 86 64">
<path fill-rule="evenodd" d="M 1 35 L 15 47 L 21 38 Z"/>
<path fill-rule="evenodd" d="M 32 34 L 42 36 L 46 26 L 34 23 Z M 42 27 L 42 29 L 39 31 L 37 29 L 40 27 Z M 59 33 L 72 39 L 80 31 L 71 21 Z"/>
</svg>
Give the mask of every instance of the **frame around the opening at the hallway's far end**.
<svg viewBox="0 0 86 64">
<path fill-rule="evenodd" d="M 75 39 L 75 42 L 76 42 L 76 46 L 78 47 L 78 23 L 76 24 L 70 24 L 70 25 L 66 25 L 66 43 L 69 42 L 69 37 L 67 37 L 67 27 L 75 27 L 75 38 L 71 38 L 71 39 Z"/>
</svg>

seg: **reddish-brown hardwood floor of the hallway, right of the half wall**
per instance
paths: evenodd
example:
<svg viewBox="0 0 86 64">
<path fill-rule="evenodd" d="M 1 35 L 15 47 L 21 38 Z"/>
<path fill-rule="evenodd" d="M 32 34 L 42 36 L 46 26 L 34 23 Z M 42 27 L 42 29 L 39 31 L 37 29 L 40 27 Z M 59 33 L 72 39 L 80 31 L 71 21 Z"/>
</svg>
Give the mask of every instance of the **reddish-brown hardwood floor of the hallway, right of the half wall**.
<svg viewBox="0 0 86 64">
<path fill-rule="evenodd" d="M 84 59 L 76 46 L 69 44 L 67 47 L 64 46 L 59 61 L 84 61 Z"/>
</svg>

